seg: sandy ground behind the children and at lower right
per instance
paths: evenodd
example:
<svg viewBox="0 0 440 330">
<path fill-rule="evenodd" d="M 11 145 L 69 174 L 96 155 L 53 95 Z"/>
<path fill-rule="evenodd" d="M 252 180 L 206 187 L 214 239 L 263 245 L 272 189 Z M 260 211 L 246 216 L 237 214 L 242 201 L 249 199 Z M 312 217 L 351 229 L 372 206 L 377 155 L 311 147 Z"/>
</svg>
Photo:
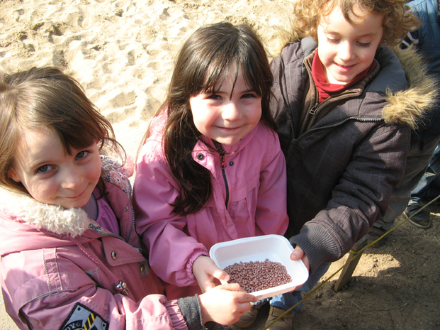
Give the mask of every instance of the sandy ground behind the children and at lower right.
<svg viewBox="0 0 440 330">
<path fill-rule="evenodd" d="M 273 52 L 290 6 L 289 0 L 0 0 L 0 70 L 62 67 L 135 155 L 164 100 L 174 56 L 196 28 L 247 22 Z M 295 316 L 294 329 L 440 329 L 440 208 L 431 211 L 430 229 L 405 224 L 385 246 L 368 248 L 342 291 L 332 289 L 337 277 L 327 282 Z M 252 329 L 264 328 L 266 313 Z M 3 306 L 0 320 L 0 330 L 16 329 Z"/>
</svg>

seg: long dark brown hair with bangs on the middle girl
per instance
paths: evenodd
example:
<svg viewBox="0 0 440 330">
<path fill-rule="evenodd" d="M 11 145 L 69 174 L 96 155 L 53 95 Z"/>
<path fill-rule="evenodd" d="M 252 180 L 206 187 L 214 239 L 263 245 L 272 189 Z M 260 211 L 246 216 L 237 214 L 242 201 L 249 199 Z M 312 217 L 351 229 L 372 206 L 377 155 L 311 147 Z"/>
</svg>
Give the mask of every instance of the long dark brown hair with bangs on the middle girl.
<svg viewBox="0 0 440 330">
<path fill-rule="evenodd" d="M 196 163 L 191 152 L 201 133 L 193 122 L 189 99 L 201 92 L 215 92 L 227 75 L 241 70 L 247 85 L 261 97 L 261 121 L 276 129 L 269 110 L 273 76 L 264 45 L 249 26 L 215 23 L 199 28 L 182 46 L 169 84 L 164 154 L 181 187 L 171 204 L 177 214 L 200 211 L 212 195 L 211 174 Z"/>
</svg>

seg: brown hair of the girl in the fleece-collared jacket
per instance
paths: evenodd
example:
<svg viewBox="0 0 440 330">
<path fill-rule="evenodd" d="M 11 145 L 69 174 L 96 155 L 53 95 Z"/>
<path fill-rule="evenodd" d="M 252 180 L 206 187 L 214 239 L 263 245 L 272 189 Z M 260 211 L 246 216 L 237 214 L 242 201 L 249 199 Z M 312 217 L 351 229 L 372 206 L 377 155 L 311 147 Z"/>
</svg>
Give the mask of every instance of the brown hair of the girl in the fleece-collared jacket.
<svg viewBox="0 0 440 330">
<path fill-rule="evenodd" d="M 64 152 L 88 148 L 99 141 L 99 150 L 118 155 L 125 151 L 115 141 L 111 123 L 86 97 L 79 82 L 56 67 L 33 67 L 0 75 L 0 185 L 26 192 L 9 177 L 13 155 L 24 130 L 47 128 L 60 138 Z M 98 187 L 103 194 L 103 182 Z"/>
</svg>

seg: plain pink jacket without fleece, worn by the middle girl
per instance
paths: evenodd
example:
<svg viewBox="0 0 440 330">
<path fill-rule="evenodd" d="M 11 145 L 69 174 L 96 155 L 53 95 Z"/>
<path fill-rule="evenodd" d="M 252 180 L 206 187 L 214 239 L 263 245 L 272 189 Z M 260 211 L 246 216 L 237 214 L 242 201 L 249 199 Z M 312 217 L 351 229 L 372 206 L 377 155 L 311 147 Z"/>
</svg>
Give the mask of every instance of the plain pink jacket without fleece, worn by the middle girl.
<svg viewBox="0 0 440 330">
<path fill-rule="evenodd" d="M 152 119 L 151 136 L 137 160 L 133 188 L 136 230 L 150 248 L 150 265 L 166 283 L 169 299 L 200 293 L 192 273 L 194 260 L 215 243 L 286 231 L 286 161 L 276 133 L 264 123 L 236 145 L 223 145 L 220 156 L 201 136 L 193 159 L 213 175 L 213 197 L 197 214 L 179 216 L 169 205 L 179 186 L 164 159 L 162 130 L 166 116 Z M 225 196 L 229 191 L 229 202 Z"/>
</svg>

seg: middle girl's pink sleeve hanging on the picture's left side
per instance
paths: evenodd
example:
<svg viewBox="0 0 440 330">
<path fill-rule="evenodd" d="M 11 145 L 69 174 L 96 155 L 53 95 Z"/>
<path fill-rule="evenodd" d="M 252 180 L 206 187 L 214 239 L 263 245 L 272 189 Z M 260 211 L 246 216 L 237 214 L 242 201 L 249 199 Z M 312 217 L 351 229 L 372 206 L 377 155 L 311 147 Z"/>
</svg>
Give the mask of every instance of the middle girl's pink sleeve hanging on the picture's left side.
<svg viewBox="0 0 440 330">
<path fill-rule="evenodd" d="M 208 255 L 208 251 L 184 232 L 186 217 L 174 214 L 169 205 L 178 196 L 174 177 L 164 160 L 154 157 L 147 147 L 144 145 L 137 162 L 133 189 L 136 231 L 150 250 L 154 273 L 179 287 L 197 285 L 192 263 L 199 255 Z"/>
</svg>

